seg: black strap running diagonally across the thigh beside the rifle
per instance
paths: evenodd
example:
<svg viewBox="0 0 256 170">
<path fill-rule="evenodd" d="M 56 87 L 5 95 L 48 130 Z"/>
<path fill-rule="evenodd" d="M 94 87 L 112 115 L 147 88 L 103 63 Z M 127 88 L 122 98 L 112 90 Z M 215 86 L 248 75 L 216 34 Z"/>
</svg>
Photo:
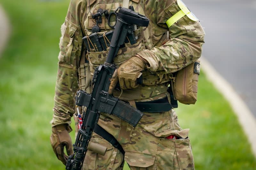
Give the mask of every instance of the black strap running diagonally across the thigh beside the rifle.
<svg viewBox="0 0 256 170">
<path fill-rule="evenodd" d="M 98 125 L 97 123 L 95 123 L 94 126 L 94 130 L 95 133 L 97 133 L 98 135 L 100 135 L 101 137 L 103 137 L 105 140 L 107 140 L 110 144 L 112 144 L 114 147 L 116 147 L 120 152 L 122 152 L 123 154 L 124 149 L 122 148 L 121 144 L 119 144 L 119 142 L 116 140 L 115 137 L 113 137 L 113 135 L 111 135 L 110 133 L 108 133 L 105 129 L 103 129 L 100 125 Z"/>
</svg>

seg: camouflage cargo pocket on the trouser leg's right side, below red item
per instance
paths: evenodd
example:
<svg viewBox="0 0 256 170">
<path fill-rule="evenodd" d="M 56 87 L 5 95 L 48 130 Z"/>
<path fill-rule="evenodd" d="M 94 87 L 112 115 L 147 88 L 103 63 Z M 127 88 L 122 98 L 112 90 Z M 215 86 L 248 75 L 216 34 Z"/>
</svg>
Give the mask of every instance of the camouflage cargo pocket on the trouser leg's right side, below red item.
<svg viewBox="0 0 256 170">
<path fill-rule="evenodd" d="M 156 159 L 157 169 L 195 169 L 189 138 L 178 140 L 159 138 Z"/>
</svg>

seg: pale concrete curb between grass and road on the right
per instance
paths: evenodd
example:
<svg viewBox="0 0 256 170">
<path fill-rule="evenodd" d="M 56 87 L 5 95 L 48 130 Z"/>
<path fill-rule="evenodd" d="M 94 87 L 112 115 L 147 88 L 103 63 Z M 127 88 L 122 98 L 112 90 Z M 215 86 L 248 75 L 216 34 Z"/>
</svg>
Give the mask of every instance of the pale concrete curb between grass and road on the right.
<svg viewBox="0 0 256 170">
<path fill-rule="evenodd" d="M 211 66 L 204 58 L 200 58 L 202 70 L 206 77 L 221 92 L 226 100 L 228 100 L 233 111 L 235 112 L 248 140 L 252 146 L 252 152 L 256 157 L 256 120 L 252 112 L 246 106 L 244 101 L 236 93 L 234 88 Z"/>
</svg>

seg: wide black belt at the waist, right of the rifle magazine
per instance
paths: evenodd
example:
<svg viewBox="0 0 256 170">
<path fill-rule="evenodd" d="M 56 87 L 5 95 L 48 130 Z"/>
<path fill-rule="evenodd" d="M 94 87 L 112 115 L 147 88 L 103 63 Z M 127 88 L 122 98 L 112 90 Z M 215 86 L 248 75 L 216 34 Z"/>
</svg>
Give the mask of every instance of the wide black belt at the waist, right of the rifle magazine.
<svg viewBox="0 0 256 170">
<path fill-rule="evenodd" d="M 167 97 L 152 101 L 135 102 L 135 104 L 141 112 L 168 112 L 172 109 Z"/>
</svg>

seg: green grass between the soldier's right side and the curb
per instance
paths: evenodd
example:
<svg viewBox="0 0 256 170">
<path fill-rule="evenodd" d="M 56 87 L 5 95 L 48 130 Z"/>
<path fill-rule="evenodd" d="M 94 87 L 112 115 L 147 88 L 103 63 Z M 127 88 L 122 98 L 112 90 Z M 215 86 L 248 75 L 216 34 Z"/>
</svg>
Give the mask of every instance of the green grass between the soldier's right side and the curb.
<svg viewBox="0 0 256 170">
<path fill-rule="evenodd" d="M 196 105 L 180 104 L 176 111 L 181 127 L 190 128 L 196 169 L 256 169 L 237 117 L 204 74 L 200 75 Z"/>
</svg>

